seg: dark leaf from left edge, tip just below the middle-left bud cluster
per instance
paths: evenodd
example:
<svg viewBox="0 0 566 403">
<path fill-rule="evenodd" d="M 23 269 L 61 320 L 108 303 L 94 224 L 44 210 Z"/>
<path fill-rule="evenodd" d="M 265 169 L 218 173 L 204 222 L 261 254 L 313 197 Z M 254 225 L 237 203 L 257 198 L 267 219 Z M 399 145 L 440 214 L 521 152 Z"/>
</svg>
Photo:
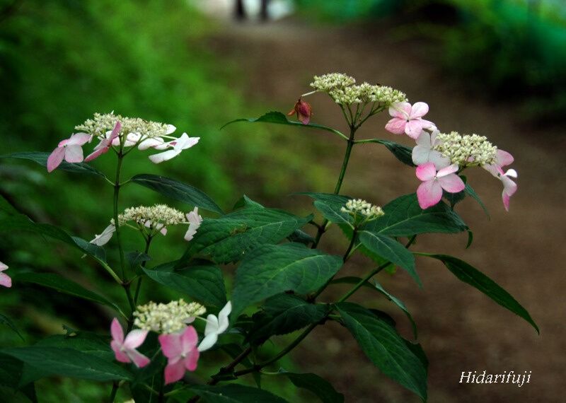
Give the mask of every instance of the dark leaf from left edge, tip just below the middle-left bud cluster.
<svg viewBox="0 0 566 403">
<path fill-rule="evenodd" d="M 45 235 L 56 240 L 61 240 L 62 242 L 75 247 L 81 252 L 86 253 L 87 255 L 96 257 L 96 259 L 103 261 L 105 261 L 106 259 L 106 254 L 102 247 L 88 243 L 82 238 L 71 236 L 67 232 L 56 226 L 52 226 L 50 224 L 34 223 L 30 220 L 30 218 L 28 218 L 28 216 L 25 216 L 23 214 L 15 214 L 13 216 L 0 218 L 0 231 L 12 230 L 28 230 L 33 233 Z"/>
</svg>

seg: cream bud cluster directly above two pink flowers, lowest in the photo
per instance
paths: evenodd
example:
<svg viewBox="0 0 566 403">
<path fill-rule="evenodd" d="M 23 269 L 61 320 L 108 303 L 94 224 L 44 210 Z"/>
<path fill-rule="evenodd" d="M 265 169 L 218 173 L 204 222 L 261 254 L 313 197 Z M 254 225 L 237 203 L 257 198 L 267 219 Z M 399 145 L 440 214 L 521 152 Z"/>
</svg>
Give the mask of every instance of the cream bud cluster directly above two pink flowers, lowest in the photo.
<svg viewBox="0 0 566 403">
<path fill-rule="evenodd" d="M 206 312 L 206 308 L 200 303 L 186 303 L 183 299 L 166 304 L 151 301 L 137 307 L 134 325 L 139 329 L 161 334 L 175 333 Z"/>
</svg>

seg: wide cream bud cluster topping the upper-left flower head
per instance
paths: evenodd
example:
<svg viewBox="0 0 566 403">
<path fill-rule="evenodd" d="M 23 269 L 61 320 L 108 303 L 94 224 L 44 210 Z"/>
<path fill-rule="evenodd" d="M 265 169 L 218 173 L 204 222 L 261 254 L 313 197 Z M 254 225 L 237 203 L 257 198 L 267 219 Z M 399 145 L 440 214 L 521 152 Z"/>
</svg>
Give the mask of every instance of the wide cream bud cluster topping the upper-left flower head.
<svg viewBox="0 0 566 403">
<path fill-rule="evenodd" d="M 100 138 L 105 138 L 106 132 L 114 129 L 117 121 L 122 124 L 120 136 L 124 134 L 139 134 L 142 139 L 152 139 L 154 137 L 166 136 L 171 133 L 171 126 L 165 123 L 151 122 L 139 117 L 123 117 L 114 115 L 114 112 L 100 114 L 95 113 L 93 119 L 88 119 L 83 124 L 79 124 L 75 129 L 86 132 Z"/>
</svg>

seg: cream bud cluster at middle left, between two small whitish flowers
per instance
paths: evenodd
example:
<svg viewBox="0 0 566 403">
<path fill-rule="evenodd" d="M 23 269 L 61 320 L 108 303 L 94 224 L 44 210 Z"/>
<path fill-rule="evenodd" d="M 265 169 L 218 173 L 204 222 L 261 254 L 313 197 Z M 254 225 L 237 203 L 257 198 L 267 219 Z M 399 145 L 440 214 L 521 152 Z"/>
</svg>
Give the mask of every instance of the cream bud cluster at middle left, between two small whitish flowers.
<svg viewBox="0 0 566 403">
<path fill-rule="evenodd" d="M 178 209 L 167 204 L 155 204 L 154 206 L 129 207 L 124 213 L 118 215 L 118 223 L 123 226 L 128 221 L 134 221 L 141 226 L 151 223 L 151 228 L 161 229 L 163 226 L 174 226 L 185 223 L 185 216 Z M 114 222 L 112 221 L 112 224 Z"/>
</svg>

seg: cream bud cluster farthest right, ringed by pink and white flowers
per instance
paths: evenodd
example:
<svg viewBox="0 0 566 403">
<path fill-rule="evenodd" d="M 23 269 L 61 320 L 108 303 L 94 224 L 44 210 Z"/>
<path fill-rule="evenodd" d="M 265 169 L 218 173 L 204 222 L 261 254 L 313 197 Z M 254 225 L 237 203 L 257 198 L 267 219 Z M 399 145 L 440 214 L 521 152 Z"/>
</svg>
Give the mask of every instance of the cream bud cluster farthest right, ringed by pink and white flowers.
<svg viewBox="0 0 566 403">
<path fill-rule="evenodd" d="M 478 134 L 439 133 L 433 147 L 461 167 L 495 163 L 497 146 Z"/>
</svg>

